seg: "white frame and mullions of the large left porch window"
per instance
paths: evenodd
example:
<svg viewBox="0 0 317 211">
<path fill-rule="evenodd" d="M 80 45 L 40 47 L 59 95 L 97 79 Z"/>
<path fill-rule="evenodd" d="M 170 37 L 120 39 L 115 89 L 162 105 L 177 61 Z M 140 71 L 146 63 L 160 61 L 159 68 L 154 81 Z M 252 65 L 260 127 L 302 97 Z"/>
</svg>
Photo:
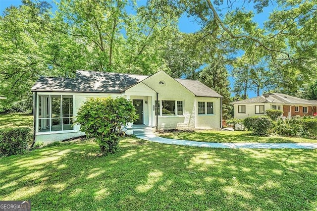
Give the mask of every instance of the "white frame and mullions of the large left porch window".
<svg viewBox="0 0 317 211">
<path fill-rule="evenodd" d="M 52 117 L 52 96 L 60 96 L 60 114 L 61 114 L 61 116 L 60 116 L 60 119 L 61 119 L 61 122 L 60 122 L 60 124 L 61 124 L 61 130 L 53 130 L 52 131 L 52 124 L 53 124 L 53 119 L 56 119 L 55 117 Z M 63 104 L 63 102 L 62 102 L 62 99 L 63 99 L 63 96 L 72 96 L 72 119 L 74 119 L 74 117 L 75 117 L 75 98 L 74 98 L 74 95 L 61 95 L 61 94 L 38 94 L 38 97 L 37 97 L 37 115 L 36 115 L 36 122 L 37 122 L 37 124 L 36 124 L 36 133 L 39 133 L 39 134 L 48 134 L 48 133 L 67 133 L 67 132 L 73 132 L 73 131 L 75 131 L 75 128 L 73 127 L 73 129 L 72 130 L 63 130 L 63 119 L 64 118 L 67 118 L 67 117 L 63 117 L 63 108 L 62 108 L 62 104 Z M 49 100 L 49 116 L 48 117 L 42 117 L 42 118 L 39 118 L 39 115 L 40 115 L 40 113 L 39 113 L 39 111 L 40 111 L 40 107 L 39 107 L 39 105 L 40 105 L 40 99 L 42 98 L 42 97 L 48 97 L 48 100 Z M 42 99 L 41 99 L 42 100 Z M 42 105 L 41 105 L 42 106 Z M 41 109 L 43 109 L 43 108 L 41 108 Z M 68 117 L 69 118 L 69 117 Z M 50 121 L 50 131 L 39 131 L 39 126 L 40 126 L 40 123 L 41 123 L 41 119 L 47 119 L 47 120 L 49 120 Z"/>
</svg>

